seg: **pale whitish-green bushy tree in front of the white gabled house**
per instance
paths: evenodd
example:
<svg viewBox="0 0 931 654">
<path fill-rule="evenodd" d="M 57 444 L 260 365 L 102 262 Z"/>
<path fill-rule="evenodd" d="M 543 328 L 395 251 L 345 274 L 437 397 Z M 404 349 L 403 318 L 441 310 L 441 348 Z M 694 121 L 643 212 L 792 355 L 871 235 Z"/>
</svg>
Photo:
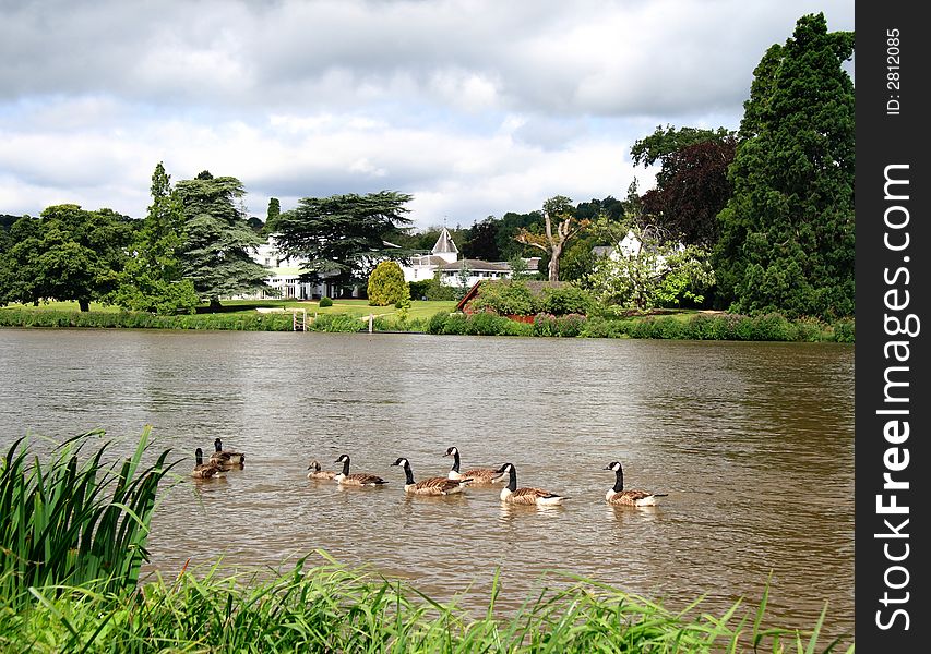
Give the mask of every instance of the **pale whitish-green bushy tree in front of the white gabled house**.
<svg viewBox="0 0 931 654">
<path fill-rule="evenodd" d="M 630 256 L 601 257 L 587 280 L 601 304 L 645 311 L 704 302 L 715 283 L 707 250 L 660 238 L 652 226 L 634 226 L 631 232 L 640 247 Z"/>
</svg>

